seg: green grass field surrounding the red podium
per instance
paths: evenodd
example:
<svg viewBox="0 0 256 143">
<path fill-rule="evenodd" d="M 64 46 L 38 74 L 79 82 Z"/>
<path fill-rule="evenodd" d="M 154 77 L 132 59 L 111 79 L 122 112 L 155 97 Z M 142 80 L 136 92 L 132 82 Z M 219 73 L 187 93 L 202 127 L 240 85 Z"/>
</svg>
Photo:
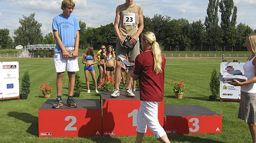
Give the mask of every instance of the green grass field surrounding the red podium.
<svg viewBox="0 0 256 143">
<path fill-rule="evenodd" d="M 20 78 L 29 71 L 31 93 L 27 100 L 0 101 L 0 143 L 133 143 L 136 137 L 93 137 L 93 138 L 39 138 L 38 109 L 46 101 L 39 86 L 48 82 L 53 89 L 51 99 L 56 98 L 56 72 L 53 59 L 0 59 L 19 61 Z M 242 60 L 240 60 L 242 61 Z M 79 59 L 83 92 L 78 99 L 98 99 L 100 94 L 86 93 L 85 75 Z M 98 73 L 98 68 L 96 73 Z M 237 118 L 238 102 L 210 102 L 209 81 L 211 70 L 220 70 L 220 59 L 167 59 L 165 67 L 165 105 L 202 105 L 223 116 L 222 132 L 215 134 L 169 135 L 173 143 L 249 143 L 252 142 L 247 124 Z M 98 76 L 98 74 L 96 74 Z M 171 80 L 184 80 L 186 91 L 183 99 L 175 98 Z M 92 82 L 91 90 L 94 90 Z M 63 99 L 67 98 L 67 74 L 63 79 Z M 218 98 L 219 99 L 219 98 Z M 209 124 L 211 124 L 209 122 Z M 154 136 L 146 136 L 144 143 L 158 142 Z"/>
</svg>

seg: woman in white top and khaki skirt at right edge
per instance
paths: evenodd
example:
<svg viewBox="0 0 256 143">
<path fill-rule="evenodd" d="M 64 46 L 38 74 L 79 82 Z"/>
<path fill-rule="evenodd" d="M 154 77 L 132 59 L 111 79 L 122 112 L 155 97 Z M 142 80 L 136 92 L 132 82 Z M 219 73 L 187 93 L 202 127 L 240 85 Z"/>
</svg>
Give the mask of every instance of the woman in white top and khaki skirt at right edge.
<svg viewBox="0 0 256 143">
<path fill-rule="evenodd" d="M 252 135 L 252 142 L 256 143 L 256 33 L 249 34 L 246 38 L 246 47 L 252 55 L 243 65 L 245 76 L 248 78 L 245 82 L 234 80 L 230 84 L 241 86 L 241 100 L 239 105 L 238 118 L 248 124 Z"/>
</svg>

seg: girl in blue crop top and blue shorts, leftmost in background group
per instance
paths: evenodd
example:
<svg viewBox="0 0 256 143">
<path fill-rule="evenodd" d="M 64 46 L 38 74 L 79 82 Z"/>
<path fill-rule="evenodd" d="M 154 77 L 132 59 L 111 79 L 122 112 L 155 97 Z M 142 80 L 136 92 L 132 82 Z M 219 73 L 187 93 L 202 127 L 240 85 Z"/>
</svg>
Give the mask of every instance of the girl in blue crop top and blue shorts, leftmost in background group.
<svg viewBox="0 0 256 143">
<path fill-rule="evenodd" d="M 95 87 L 95 92 L 99 93 L 97 90 L 97 82 L 95 78 L 95 69 L 93 67 L 94 64 L 97 63 L 96 61 L 96 56 L 93 53 L 93 47 L 88 46 L 87 47 L 87 53 L 84 54 L 82 58 L 82 63 L 85 64 L 85 80 L 86 80 L 86 86 L 87 86 L 87 93 L 91 93 L 90 86 L 89 86 L 89 72 L 91 73 L 91 78 L 93 79 L 94 82 L 94 87 Z"/>
</svg>

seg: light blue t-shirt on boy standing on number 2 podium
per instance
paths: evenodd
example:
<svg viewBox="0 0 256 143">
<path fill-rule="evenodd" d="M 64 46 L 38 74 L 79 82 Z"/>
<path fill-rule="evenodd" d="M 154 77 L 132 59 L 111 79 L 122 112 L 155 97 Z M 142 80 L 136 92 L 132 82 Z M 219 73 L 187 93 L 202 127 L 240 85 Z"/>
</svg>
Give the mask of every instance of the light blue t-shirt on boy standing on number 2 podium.
<svg viewBox="0 0 256 143">
<path fill-rule="evenodd" d="M 74 47 L 76 40 L 76 32 L 80 30 L 76 17 L 69 15 L 64 17 L 62 14 L 52 19 L 52 31 L 58 31 L 59 37 L 65 47 Z M 60 46 L 56 43 L 55 52 L 61 52 Z"/>
</svg>

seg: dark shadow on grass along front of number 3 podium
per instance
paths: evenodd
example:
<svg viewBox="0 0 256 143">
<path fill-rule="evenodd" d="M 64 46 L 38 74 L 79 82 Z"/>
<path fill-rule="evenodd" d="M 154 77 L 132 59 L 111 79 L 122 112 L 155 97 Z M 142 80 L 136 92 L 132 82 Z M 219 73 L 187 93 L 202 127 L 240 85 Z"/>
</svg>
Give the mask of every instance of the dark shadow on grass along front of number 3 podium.
<svg viewBox="0 0 256 143">
<path fill-rule="evenodd" d="M 167 135 L 172 141 L 190 142 L 190 143 L 224 143 L 222 141 L 215 141 L 212 139 L 202 139 L 200 137 L 192 137 L 189 135 Z"/>
</svg>

